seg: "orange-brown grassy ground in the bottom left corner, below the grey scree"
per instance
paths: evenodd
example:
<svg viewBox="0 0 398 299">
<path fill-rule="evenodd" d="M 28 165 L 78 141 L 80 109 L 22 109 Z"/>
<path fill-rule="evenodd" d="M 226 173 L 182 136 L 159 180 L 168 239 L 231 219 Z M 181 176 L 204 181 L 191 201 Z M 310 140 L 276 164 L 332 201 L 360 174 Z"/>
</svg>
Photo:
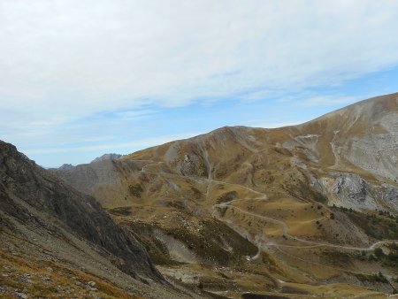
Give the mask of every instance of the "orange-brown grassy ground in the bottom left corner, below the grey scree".
<svg viewBox="0 0 398 299">
<path fill-rule="evenodd" d="M 28 294 L 28 295 L 27 295 Z M 136 298 L 103 279 L 55 262 L 30 260 L 0 250 L 0 297 Z"/>
</svg>

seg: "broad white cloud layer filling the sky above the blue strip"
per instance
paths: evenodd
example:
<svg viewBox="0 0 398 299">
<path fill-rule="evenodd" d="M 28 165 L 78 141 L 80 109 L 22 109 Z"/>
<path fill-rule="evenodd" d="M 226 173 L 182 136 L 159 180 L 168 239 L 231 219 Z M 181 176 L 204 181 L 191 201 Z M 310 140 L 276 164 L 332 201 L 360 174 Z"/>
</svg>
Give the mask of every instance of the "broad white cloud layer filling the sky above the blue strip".
<svg viewBox="0 0 398 299">
<path fill-rule="evenodd" d="M 0 134 L 338 85 L 397 65 L 397 30 L 387 0 L 0 0 Z"/>
</svg>

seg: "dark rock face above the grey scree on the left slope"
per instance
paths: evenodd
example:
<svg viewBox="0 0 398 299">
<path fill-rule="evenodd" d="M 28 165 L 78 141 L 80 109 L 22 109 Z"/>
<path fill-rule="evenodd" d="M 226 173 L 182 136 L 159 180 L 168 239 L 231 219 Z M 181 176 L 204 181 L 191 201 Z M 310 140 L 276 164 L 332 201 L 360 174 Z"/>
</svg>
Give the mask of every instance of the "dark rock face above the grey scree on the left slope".
<svg viewBox="0 0 398 299">
<path fill-rule="evenodd" d="M 0 142 L 0 197 L 2 221 L 18 220 L 50 234 L 66 230 L 110 256 L 123 272 L 163 280 L 142 245 L 116 225 L 93 197 L 65 185 L 5 142 Z"/>
</svg>

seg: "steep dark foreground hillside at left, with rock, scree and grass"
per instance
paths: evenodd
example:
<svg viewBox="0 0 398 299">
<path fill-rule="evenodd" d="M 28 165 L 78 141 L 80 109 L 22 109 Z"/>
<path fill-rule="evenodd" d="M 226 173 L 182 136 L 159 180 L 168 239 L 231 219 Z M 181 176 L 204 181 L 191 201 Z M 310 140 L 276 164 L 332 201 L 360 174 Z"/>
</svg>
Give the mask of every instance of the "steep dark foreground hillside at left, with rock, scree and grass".
<svg viewBox="0 0 398 299">
<path fill-rule="evenodd" d="M 0 142 L 0 296 L 185 297 L 91 196 Z"/>
</svg>

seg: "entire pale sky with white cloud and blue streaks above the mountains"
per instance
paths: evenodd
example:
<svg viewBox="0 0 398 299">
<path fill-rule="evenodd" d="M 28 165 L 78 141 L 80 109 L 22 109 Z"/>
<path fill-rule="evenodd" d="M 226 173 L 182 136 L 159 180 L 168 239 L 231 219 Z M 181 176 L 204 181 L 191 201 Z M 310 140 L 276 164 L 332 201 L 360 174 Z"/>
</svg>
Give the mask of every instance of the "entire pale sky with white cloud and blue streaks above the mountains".
<svg viewBox="0 0 398 299">
<path fill-rule="evenodd" d="M 0 0 L 0 139 L 44 167 L 398 91 L 398 1 Z"/>
</svg>

